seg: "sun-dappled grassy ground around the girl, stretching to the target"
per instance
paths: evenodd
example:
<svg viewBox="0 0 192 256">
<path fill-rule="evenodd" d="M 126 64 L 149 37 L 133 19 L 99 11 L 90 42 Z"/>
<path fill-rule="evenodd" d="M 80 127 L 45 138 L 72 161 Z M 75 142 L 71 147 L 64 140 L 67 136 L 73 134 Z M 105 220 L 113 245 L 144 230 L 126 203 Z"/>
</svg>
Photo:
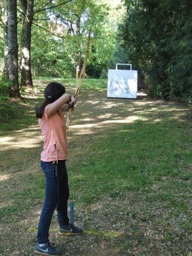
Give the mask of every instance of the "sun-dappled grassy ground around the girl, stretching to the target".
<svg viewBox="0 0 192 256">
<path fill-rule="evenodd" d="M 0 255 L 35 255 L 44 199 L 42 134 L 34 95 L 0 102 Z M 54 79 L 55 80 L 55 79 Z M 58 80 L 74 93 L 76 79 Z M 192 255 L 192 112 L 186 104 L 108 99 L 106 81 L 84 79 L 68 135 L 70 200 L 81 236 L 50 240 L 63 256 Z"/>
</svg>

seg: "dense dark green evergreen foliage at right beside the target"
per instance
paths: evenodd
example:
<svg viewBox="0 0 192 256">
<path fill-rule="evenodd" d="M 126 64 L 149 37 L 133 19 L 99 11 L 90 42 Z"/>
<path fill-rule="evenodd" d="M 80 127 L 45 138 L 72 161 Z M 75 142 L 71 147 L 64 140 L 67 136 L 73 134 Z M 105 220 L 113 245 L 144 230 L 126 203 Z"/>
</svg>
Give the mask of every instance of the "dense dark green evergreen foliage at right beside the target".
<svg viewBox="0 0 192 256">
<path fill-rule="evenodd" d="M 125 5 L 127 15 L 118 37 L 150 95 L 190 98 L 191 0 L 139 0 Z"/>
</svg>

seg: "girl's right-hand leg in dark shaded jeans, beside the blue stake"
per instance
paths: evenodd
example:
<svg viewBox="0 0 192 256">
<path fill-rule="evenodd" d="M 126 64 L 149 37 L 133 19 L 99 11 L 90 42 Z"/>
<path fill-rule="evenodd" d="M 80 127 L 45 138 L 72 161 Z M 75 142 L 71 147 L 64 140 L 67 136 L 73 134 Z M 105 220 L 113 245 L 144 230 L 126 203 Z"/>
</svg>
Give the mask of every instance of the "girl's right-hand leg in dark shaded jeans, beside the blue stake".
<svg viewBox="0 0 192 256">
<path fill-rule="evenodd" d="M 67 175 L 67 168 L 65 165 L 65 161 L 59 161 L 58 168 L 62 170 L 61 188 L 62 188 L 62 194 L 63 194 L 62 210 L 58 211 L 58 222 L 59 222 L 60 228 L 63 228 L 69 225 L 69 219 L 67 214 L 69 189 L 68 189 L 68 175 Z"/>
</svg>

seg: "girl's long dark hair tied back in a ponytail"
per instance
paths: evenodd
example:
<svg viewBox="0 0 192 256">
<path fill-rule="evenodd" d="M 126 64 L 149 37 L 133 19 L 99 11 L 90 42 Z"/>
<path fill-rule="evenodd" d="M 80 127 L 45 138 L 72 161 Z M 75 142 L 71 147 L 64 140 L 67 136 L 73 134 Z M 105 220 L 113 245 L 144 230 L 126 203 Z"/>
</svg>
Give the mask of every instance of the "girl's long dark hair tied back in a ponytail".
<svg viewBox="0 0 192 256">
<path fill-rule="evenodd" d="M 49 83 L 44 90 L 44 101 L 42 102 L 39 108 L 35 109 L 36 118 L 42 118 L 44 114 L 45 107 L 54 102 L 55 100 L 59 99 L 65 93 L 65 87 L 56 82 Z"/>
</svg>

